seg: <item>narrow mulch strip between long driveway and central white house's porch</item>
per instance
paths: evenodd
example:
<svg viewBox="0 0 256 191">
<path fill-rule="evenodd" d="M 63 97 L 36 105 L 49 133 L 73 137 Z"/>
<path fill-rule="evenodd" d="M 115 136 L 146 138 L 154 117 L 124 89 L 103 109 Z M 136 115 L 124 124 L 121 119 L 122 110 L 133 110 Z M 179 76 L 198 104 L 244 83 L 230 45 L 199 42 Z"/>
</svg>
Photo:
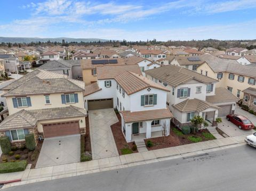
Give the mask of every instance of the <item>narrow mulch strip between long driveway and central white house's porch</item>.
<svg viewBox="0 0 256 191">
<path fill-rule="evenodd" d="M 123 132 L 122 132 L 122 128 L 121 128 L 121 126 L 122 126 L 121 116 L 119 114 L 116 114 L 116 115 L 117 115 L 117 118 L 119 121 L 117 123 L 111 125 L 110 127 L 112 130 L 114 139 L 115 139 L 118 153 L 119 153 L 119 155 L 122 155 L 121 149 L 122 148 L 132 149 L 132 145 L 134 144 L 134 142 L 131 142 L 131 143 L 126 142 Z M 133 151 L 133 153 L 138 153 L 138 150 Z"/>
</svg>

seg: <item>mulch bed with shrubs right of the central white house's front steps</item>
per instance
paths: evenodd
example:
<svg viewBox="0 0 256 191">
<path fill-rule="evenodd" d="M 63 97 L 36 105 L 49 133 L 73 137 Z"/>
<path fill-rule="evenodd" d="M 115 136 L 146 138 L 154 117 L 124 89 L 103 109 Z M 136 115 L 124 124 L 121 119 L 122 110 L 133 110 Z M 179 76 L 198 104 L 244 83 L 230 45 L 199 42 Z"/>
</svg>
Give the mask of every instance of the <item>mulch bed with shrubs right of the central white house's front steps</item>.
<svg viewBox="0 0 256 191">
<path fill-rule="evenodd" d="M 147 143 L 148 140 L 151 140 L 151 142 L 153 142 L 153 146 L 152 147 L 147 147 L 147 149 L 149 151 L 151 150 L 156 150 L 156 149 L 160 149 L 160 148 L 167 148 L 167 147 L 173 147 L 173 146 L 179 146 L 179 145 L 187 145 L 187 144 L 191 144 L 193 142 L 191 142 L 188 137 L 189 136 L 196 136 L 196 137 L 201 137 L 202 138 L 202 142 L 206 141 L 206 140 L 211 140 L 211 139 L 207 139 L 205 138 L 202 133 L 203 132 L 208 132 L 209 131 L 207 129 L 203 129 L 202 131 L 198 131 L 196 133 L 196 135 L 194 134 L 189 134 L 189 135 L 177 135 L 175 134 L 175 132 L 170 129 L 170 135 L 165 137 L 163 139 L 163 137 L 156 137 L 156 138 L 149 138 L 149 139 L 144 139 L 145 144 Z"/>
</svg>

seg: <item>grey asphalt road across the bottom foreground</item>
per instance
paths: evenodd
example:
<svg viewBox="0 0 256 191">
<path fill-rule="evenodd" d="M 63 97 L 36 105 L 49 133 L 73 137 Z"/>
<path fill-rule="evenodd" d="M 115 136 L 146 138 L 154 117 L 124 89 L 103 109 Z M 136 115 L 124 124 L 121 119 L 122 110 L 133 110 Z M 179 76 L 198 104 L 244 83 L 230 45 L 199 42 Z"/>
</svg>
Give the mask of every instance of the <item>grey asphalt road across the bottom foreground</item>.
<svg viewBox="0 0 256 191">
<path fill-rule="evenodd" d="M 244 145 L 174 159 L 4 190 L 255 190 L 256 149 Z"/>
</svg>

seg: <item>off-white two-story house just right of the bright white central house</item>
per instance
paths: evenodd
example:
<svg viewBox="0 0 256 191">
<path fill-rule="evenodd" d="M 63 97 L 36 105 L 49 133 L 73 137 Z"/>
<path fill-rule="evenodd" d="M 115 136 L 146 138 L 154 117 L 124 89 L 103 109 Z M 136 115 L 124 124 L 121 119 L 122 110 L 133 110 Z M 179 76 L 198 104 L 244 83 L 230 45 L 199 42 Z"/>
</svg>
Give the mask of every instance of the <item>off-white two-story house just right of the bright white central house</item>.
<svg viewBox="0 0 256 191">
<path fill-rule="evenodd" d="M 234 113 L 236 98 L 226 89 L 216 91 L 218 80 L 176 65 L 166 65 L 145 73 L 148 79 L 170 90 L 166 104 L 173 113 L 174 124 L 178 127 L 190 124 L 195 115 L 214 125 L 217 117 Z M 227 99 L 228 96 L 221 97 L 221 94 L 231 97 Z M 224 111 L 220 112 L 222 108 Z"/>
</svg>

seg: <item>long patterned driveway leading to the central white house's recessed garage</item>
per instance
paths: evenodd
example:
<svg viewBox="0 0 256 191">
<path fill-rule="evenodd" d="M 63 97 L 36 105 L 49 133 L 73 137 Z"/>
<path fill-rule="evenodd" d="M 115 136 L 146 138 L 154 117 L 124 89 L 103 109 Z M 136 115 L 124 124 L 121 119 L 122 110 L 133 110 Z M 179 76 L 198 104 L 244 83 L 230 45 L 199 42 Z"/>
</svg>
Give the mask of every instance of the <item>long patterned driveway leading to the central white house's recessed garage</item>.
<svg viewBox="0 0 256 191">
<path fill-rule="evenodd" d="M 118 122 L 113 109 L 89 111 L 92 159 L 118 156 L 111 124 Z"/>
</svg>

